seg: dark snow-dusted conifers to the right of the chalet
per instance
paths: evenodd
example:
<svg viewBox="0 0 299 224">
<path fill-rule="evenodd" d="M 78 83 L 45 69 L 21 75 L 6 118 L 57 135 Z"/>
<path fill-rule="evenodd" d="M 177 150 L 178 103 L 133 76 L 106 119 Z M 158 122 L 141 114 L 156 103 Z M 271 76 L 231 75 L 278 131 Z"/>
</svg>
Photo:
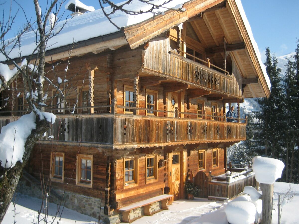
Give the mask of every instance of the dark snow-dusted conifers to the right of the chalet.
<svg viewBox="0 0 299 224">
<path fill-rule="evenodd" d="M 295 53 L 286 59 L 284 74 L 269 47 L 264 65 L 271 82 L 271 95 L 268 99 L 255 99 L 260 110 L 246 114 L 247 139 L 229 148 L 228 161 L 248 164 L 255 155 L 280 159 L 285 164 L 280 181 L 298 184 L 299 40 Z"/>
</svg>

